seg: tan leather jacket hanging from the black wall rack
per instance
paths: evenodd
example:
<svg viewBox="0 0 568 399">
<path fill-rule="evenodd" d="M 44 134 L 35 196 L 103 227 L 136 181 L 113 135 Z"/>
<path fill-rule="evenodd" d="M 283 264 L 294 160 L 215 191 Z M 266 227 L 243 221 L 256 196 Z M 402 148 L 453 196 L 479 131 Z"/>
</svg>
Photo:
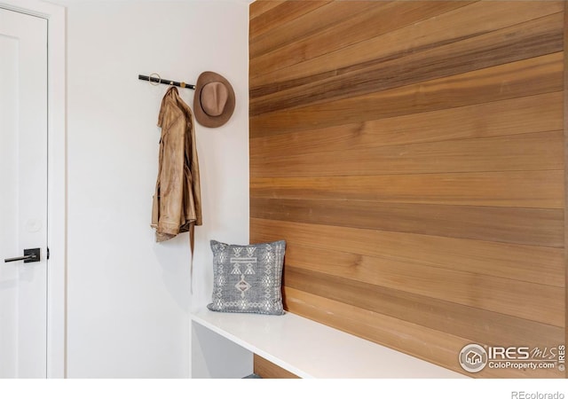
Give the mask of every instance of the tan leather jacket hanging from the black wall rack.
<svg viewBox="0 0 568 399">
<path fill-rule="evenodd" d="M 181 232 L 193 232 L 193 225 L 202 223 L 193 113 L 176 87 L 170 87 L 162 99 L 158 126 L 162 128 L 162 137 L 152 227 L 156 241 L 160 242 Z"/>
</svg>

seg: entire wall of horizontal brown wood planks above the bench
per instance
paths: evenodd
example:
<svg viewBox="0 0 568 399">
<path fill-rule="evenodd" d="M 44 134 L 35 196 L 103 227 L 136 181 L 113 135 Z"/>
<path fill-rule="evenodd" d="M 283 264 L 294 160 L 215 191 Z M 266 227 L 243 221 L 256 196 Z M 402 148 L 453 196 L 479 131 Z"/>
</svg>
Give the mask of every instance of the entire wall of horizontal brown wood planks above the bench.
<svg viewBox="0 0 568 399">
<path fill-rule="evenodd" d="M 565 340 L 564 2 L 250 5 L 250 239 L 289 311 L 471 377 Z"/>
</svg>

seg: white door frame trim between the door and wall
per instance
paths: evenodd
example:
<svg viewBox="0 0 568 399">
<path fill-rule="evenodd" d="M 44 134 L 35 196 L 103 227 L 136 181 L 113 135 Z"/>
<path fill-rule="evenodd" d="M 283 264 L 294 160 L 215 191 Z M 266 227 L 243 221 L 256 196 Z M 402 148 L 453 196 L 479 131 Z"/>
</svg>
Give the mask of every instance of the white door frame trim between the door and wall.
<svg viewBox="0 0 568 399">
<path fill-rule="evenodd" d="M 46 378 L 67 378 L 67 20 L 66 8 L 41 0 L 0 7 L 48 21 L 48 193 Z"/>
</svg>

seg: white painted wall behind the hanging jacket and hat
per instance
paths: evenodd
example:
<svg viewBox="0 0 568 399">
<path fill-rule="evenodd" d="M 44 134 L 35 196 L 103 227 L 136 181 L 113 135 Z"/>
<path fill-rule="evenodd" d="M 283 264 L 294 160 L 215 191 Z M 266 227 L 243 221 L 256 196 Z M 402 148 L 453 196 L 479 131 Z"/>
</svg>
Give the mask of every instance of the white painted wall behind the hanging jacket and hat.
<svg viewBox="0 0 568 399">
<path fill-rule="evenodd" d="M 67 376 L 186 378 L 188 312 L 210 299 L 209 239 L 248 243 L 248 2 L 67 6 Z M 187 233 L 154 242 L 156 127 L 165 85 L 205 70 L 232 82 L 225 126 L 197 125 L 203 226 L 193 303 Z M 193 90 L 179 89 L 193 107 Z"/>
</svg>

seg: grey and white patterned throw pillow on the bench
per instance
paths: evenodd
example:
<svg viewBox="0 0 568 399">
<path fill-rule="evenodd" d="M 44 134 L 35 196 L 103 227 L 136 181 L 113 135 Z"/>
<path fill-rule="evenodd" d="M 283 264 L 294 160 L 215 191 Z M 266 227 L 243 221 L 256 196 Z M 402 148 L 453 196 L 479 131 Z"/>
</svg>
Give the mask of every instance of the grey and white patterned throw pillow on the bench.
<svg viewBox="0 0 568 399">
<path fill-rule="evenodd" d="M 286 241 L 249 246 L 210 241 L 213 294 L 209 310 L 283 315 L 282 267 Z"/>
</svg>

